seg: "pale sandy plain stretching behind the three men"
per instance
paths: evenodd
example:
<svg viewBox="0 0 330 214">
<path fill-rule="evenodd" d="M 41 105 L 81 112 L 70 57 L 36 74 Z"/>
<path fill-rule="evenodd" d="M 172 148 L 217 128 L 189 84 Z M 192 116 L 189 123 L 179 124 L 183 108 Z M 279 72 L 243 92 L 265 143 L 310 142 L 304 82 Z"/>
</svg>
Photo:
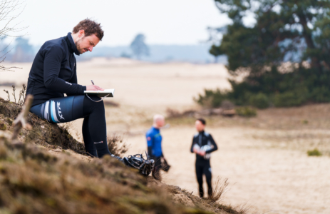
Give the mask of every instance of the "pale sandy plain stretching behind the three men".
<svg viewBox="0 0 330 214">
<path fill-rule="evenodd" d="M 23 69 L 1 73 L 0 84 L 26 83 L 31 63 L 16 66 Z M 78 62 L 79 83 L 90 84 L 93 79 L 99 86 L 115 88 L 112 101 L 120 107 L 106 108 L 108 133 L 126 133 L 128 154 L 146 150 L 143 133 L 154 113 L 165 113 L 168 107 L 197 108 L 192 98 L 204 88 L 230 88 L 227 77 L 225 66 L 216 64 L 104 58 Z M 6 98 L 3 89 L 10 87 L 0 89 Z M 230 182 L 223 203 L 251 206 L 256 213 L 330 213 L 330 157 L 306 156 L 314 147 L 330 153 L 330 118 L 324 117 L 329 112 L 329 105 L 320 105 L 260 111 L 253 119 L 213 118 L 207 127 L 219 147 L 211 158 L 213 178 Z M 81 139 L 81 120 L 71 126 L 73 136 Z M 196 194 L 195 156 L 190 153 L 194 133 L 193 121 L 162 131 L 163 151 L 172 165 L 163 182 Z"/>
</svg>

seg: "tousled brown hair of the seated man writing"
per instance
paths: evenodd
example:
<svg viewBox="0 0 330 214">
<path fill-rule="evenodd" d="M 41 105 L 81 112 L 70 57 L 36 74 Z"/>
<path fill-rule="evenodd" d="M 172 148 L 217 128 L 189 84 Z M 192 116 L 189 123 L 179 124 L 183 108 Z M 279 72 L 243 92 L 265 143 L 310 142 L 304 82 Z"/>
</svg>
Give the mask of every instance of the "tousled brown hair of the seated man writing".
<svg viewBox="0 0 330 214">
<path fill-rule="evenodd" d="M 77 34 L 80 30 L 85 31 L 85 36 L 91 36 L 93 34 L 102 40 L 104 36 L 104 32 L 101 29 L 101 26 L 99 23 L 96 23 L 96 21 L 93 21 L 91 19 L 83 19 L 83 21 L 80 21 L 74 28 L 73 28 L 73 34 Z"/>
</svg>

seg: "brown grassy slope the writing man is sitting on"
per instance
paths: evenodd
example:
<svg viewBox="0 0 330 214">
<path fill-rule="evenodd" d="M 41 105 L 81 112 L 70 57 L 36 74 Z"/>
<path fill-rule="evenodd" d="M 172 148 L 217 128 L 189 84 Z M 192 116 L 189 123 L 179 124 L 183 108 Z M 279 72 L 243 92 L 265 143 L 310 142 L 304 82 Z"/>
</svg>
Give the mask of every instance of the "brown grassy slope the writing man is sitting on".
<svg viewBox="0 0 330 214">
<path fill-rule="evenodd" d="M 81 145 L 32 115 L 33 130 L 13 142 L 18 112 L 19 106 L 0 100 L 0 124 L 6 126 L 0 131 L 0 213 L 244 213 L 143 177 L 109 156 L 89 163 L 64 150 L 54 156 L 44 146 L 81 153 Z"/>
</svg>

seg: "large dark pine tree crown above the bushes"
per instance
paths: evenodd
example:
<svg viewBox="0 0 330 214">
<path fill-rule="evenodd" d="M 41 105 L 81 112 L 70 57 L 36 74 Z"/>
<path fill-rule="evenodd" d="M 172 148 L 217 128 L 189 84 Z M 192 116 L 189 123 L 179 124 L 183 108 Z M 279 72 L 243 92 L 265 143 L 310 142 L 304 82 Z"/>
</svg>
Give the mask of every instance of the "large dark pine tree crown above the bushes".
<svg viewBox="0 0 330 214">
<path fill-rule="evenodd" d="M 330 68 L 329 0 L 215 0 L 217 8 L 232 19 L 220 46 L 213 53 L 228 56 L 234 73 L 248 68 L 264 72 L 283 61 L 308 60 L 313 71 Z M 244 25 L 254 16 L 252 27 Z"/>
</svg>

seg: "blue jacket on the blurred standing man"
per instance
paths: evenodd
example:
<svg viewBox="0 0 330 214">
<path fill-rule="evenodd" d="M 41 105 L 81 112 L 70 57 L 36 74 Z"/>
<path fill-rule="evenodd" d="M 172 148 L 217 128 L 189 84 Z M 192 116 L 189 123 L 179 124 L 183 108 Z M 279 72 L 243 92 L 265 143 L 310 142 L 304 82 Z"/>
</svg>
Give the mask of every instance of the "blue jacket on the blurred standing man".
<svg viewBox="0 0 330 214">
<path fill-rule="evenodd" d="M 163 156 L 162 151 L 162 136 L 160 135 L 160 130 L 155 127 L 151 127 L 147 133 L 145 133 L 148 143 L 148 155 L 161 157 Z"/>
</svg>

